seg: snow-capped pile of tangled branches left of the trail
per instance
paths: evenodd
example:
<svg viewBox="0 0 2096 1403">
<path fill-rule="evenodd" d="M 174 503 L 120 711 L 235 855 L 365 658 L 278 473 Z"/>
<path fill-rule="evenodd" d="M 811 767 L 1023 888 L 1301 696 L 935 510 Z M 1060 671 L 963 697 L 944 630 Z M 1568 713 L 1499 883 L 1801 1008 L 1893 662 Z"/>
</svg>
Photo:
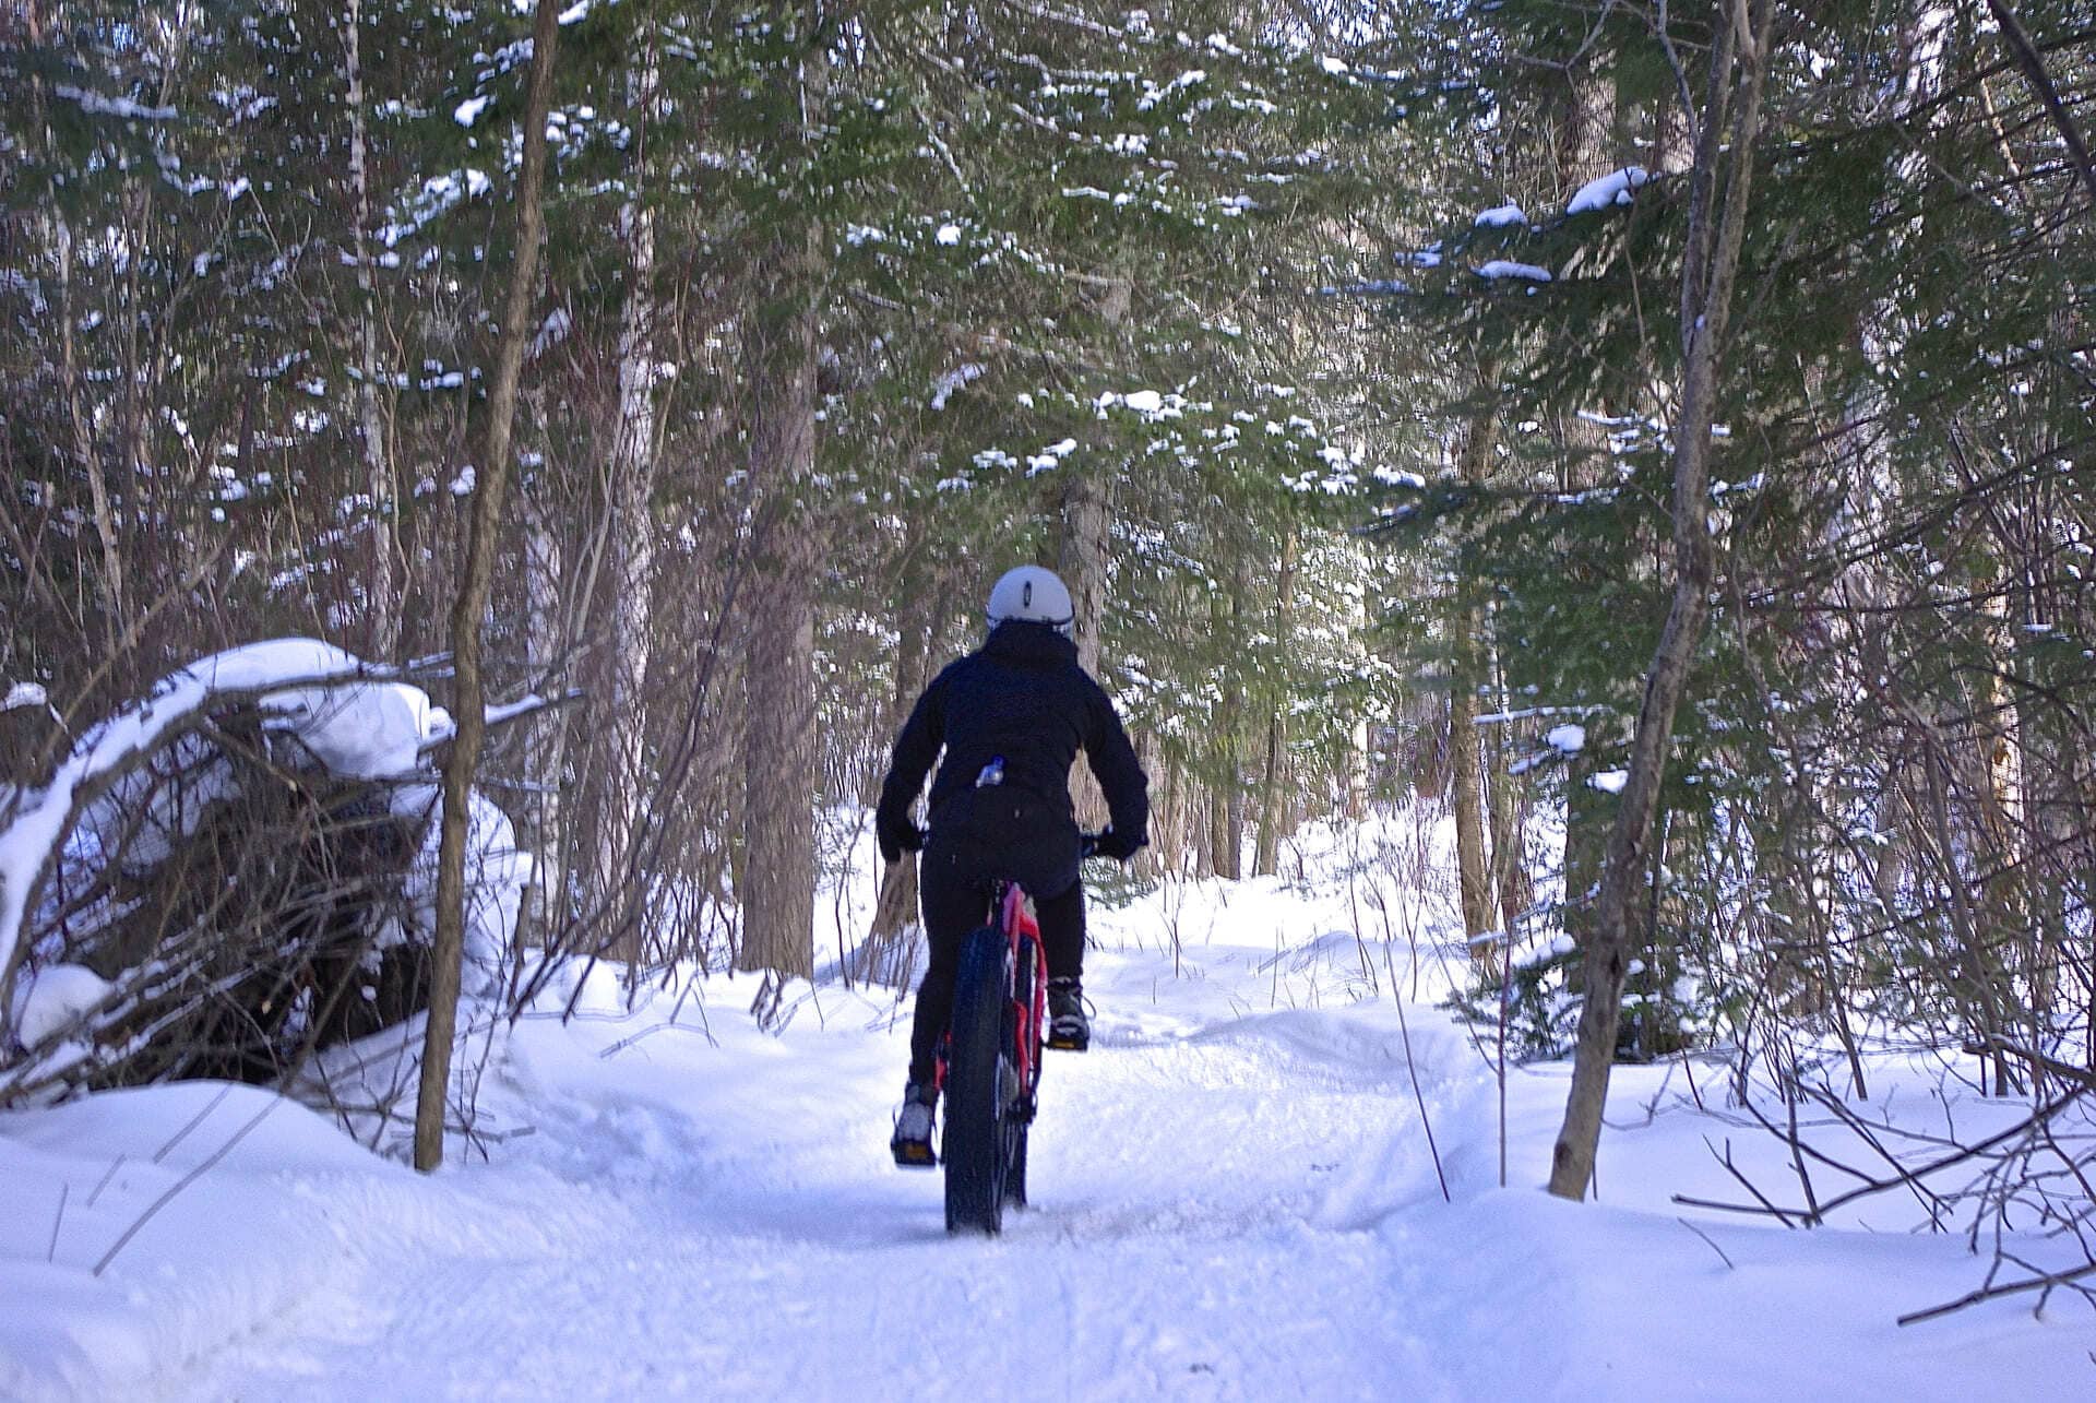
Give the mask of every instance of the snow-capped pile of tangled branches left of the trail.
<svg viewBox="0 0 2096 1403">
<path fill-rule="evenodd" d="M 425 1002 L 451 717 L 314 640 L 220 652 L 0 786 L 0 1107 L 283 1080 Z M 474 795 L 465 992 L 503 988 L 530 860 Z"/>
</svg>

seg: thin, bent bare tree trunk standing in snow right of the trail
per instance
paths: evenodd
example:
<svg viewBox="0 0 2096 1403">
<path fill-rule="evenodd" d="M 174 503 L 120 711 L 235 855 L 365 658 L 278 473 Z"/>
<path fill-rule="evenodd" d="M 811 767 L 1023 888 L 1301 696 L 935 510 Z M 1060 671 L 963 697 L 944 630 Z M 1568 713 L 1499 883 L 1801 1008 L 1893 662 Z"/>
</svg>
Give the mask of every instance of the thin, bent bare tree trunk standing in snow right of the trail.
<svg viewBox="0 0 2096 1403">
<path fill-rule="evenodd" d="M 1687 256 L 1681 271 L 1681 401 L 1675 422 L 1675 598 L 1645 673 L 1645 698 L 1631 742 L 1631 774 L 1601 870 L 1601 900 L 1587 950 L 1587 992 L 1580 1005 L 1578 1053 L 1566 1120 L 1551 1156 L 1551 1193 L 1580 1200 L 1593 1183 L 1616 1055 L 1626 952 L 1639 885 L 1650 879 L 1647 843 L 1660 807 L 1660 780 L 1675 709 L 1687 690 L 1689 665 L 1702 640 L 1717 573 L 1710 543 L 1710 424 L 1719 357 L 1731 312 L 1733 275 L 1746 229 L 1746 203 L 1761 134 L 1763 57 L 1769 52 L 1773 0 L 1733 0 L 1733 25 L 1721 25 L 1710 52 L 1702 141 L 1689 189 Z M 1752 13 L 1752 19 L 1748 15 Z M 1752 34 L 1746 34 L 1752 25 Z M 1723 153 L 1725 189 L 1719 191 Z"/>
</svg>

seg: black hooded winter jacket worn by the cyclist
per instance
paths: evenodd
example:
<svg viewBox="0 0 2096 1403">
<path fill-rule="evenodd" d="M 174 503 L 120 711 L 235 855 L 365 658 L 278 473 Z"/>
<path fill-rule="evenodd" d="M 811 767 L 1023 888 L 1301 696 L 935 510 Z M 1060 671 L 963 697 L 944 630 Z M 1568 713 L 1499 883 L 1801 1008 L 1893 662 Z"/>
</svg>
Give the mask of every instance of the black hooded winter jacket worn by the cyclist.
<svg viewBox="0 0 2096 1403">
<path fill-rule="evenodd" d="M 1077 646 L 1044 623 L 1000 623 L 981 650 L 945 667 L 895 740 L 876 820 L 889 830 L 910 822 L 924 776 L 945 747 L 931 786 L 931 828 L 941 810 L 973 795 L 985 765 L 1004 761 L 1004 786 L 1035 795 L 1071 820 L 1069 768 L 1082 749 L 1117 835 L 1144 835 L 1151 822 L 1149 780 L 1128 744 L 1113 703 L 1077 665 Z"/>
</svg>

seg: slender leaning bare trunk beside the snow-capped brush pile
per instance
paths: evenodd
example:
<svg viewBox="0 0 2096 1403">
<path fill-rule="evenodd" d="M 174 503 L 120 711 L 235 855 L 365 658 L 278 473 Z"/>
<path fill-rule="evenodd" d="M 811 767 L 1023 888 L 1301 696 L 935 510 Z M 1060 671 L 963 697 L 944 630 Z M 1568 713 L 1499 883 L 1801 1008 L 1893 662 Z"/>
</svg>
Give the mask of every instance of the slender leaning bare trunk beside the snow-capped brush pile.
<svg viewBox="0 0 2096 1403">
<path fill-rule="evenodd" d="M 545 113 L 553 101 L 553 46 L 560 40 L 560 4 L 539 0 L 532 17 L 530 88 L 524 99 L 524 168 L 518 176 L 518 252 L 503 304 L 501 352 L 488 386 L 488 419 L 474 493 L 472 535 L 459 596 L 451 610 L 453 667 L 457 669 L 457 734 L 444 763 L 444 828 L 436 860 L 436 940 L 430 952 L 430 1021 L 423 1030 L 421 1091 L 415 1101 L 415 1168 L 444 1162 L 444 1103 L 451 1082 L 451 1040 L 459 1021 L 459 965 L 465 954 L 465 835 L 486 698 L 480 679 L 480 621 L 488 612 L 495 577 L 495 533 L 503 522 L 509 484 L 509 426 L 516 417 L 524 346 L 530 340 L 532 289 L 539 283 L 539 239 L 545 231 Z"/>
</svg>

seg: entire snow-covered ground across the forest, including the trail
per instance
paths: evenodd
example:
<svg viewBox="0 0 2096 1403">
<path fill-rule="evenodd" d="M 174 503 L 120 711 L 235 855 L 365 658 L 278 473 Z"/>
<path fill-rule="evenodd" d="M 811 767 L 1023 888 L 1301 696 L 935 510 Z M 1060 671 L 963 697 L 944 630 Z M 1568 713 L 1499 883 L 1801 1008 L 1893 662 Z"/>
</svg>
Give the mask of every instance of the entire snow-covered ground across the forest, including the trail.
<svg viewBox="0 0 2096 1403">
<path fill-rule="evenodd" d="M 0 1397 L 2096 1397 L 2077 1300 L 1899 1328 L 1985 1260 L 1897 1206 L 1677 1208 L 1738 1195 L 1708 1143 L 1782 1166 L 1683 1063 L 1618 1070 L 1585 1206 L 1538 1189 L 1568 1067 L 1515 1070 L 1501 1187 L 1486 1057 L 1388 996 L 1411 946 L 1371 979 L 1276 883 L 1193 891 L 1094 912 L 1094 1046 L 1050 1055 L 998 1239 L 889 1162 L 878 990 L 799 986 L 771 1034 L 748 975 L 629 1009 L 599 967 L 434 1177 L 254 1088 L 0 1116 Z"/>
</svg>

